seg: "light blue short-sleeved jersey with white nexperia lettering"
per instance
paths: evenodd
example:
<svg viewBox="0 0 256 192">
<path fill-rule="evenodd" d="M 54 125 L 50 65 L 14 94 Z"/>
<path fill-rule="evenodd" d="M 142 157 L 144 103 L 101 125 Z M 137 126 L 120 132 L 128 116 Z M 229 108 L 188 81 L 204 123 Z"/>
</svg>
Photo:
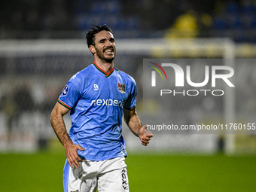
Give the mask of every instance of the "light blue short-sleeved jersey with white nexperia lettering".
<svg viewBox="0 0 256 192">
<path fill-rule="evenodd" d="M 116 68 L 106 74 L 93 63 L 69 80 L 58 102 L 71 110 L 69 137 L 85 149 L 78 150 L 79 157 L 99 161 L 127 155 L 123 108 L 136 108 L 136 82 L 130 75 Z"/>
</svg>

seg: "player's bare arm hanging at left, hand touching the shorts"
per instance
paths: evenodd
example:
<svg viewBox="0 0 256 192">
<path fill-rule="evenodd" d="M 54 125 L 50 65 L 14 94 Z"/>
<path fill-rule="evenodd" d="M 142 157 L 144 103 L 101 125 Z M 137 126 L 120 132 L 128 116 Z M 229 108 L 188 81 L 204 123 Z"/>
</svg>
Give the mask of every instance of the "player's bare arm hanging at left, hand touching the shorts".
<svg viewBox="0 0 256 192">
<path fill-rule="evenodd" d="M 77 151 L 84 151 L 84 148 L 81 148 L 80 145 L 75 145 L 72 140 L 69 138 L 68 133 L 66 132 L 66 126 L 63 120 L 63 115 L 69 112 L 69 109 L 60 105 L 59 102 L 56 102 L 56 105 L 53 108 L 52 113 L 50 114 L 50 123 L 53 126 L 53 130 L 56 133 L 59 141 L 62 143 L 66 149 L 66 157 L 69 161 L 71 167 L 75 166 L 78 168 L 78 161 L 82 161 L 78 156 Z"/>
</svg>

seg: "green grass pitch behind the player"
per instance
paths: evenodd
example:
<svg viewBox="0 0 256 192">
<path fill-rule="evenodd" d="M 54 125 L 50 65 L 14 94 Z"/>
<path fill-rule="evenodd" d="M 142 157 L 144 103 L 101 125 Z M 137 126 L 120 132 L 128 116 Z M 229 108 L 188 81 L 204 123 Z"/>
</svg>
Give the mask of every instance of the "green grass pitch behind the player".
<svg viewBox="0 0 256 192">
<path fill-rule="evenodd" d="M 62 153 L 0 154 L 0 191 L 62 191 Z M 126 158 L 131 192 L 255 191 L 256 157 L 137 155 Z"/>
</svg>

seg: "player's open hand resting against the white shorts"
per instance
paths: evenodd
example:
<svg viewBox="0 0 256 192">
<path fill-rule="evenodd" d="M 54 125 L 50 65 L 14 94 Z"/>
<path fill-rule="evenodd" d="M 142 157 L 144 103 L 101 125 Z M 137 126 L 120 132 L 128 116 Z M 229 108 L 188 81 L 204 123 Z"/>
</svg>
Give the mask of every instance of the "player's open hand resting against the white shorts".
<svg viewBox="0 0 256 192">
<path fill-rule="evenodd" d="M 78 156 L 78 150 L 84 151 L 80 145 L 70 144 L 66 146 L 66 157 L 69 165 L 73 168 L 78 168 L 80 166 L 79 161 L 82 162 L 81 158 Z"/>
</svg>

